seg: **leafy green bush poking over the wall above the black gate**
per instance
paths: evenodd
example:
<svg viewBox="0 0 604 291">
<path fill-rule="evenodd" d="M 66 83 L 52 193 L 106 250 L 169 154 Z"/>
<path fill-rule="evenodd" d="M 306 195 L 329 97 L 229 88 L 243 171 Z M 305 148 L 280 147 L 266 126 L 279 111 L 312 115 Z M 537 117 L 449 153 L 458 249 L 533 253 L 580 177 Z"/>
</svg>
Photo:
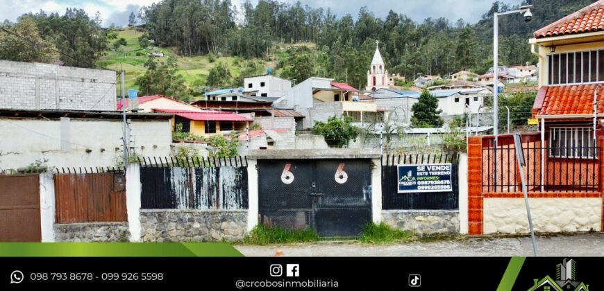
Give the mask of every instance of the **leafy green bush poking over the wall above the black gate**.
<svg viewBox="0 0 604 291">
<path fill-rule="evenodd" d="M 344 120 L 331 116 L 327 123 L 315 121 L 312 130 L 316 134 L 321 134 L 330 147 L 343 148 L 351 139 L 356 141 L 360 134 L 360 129 L 353 126 L 352 122 L 353 118 L 348 116 L 344 117 Z"/>
</svg>

